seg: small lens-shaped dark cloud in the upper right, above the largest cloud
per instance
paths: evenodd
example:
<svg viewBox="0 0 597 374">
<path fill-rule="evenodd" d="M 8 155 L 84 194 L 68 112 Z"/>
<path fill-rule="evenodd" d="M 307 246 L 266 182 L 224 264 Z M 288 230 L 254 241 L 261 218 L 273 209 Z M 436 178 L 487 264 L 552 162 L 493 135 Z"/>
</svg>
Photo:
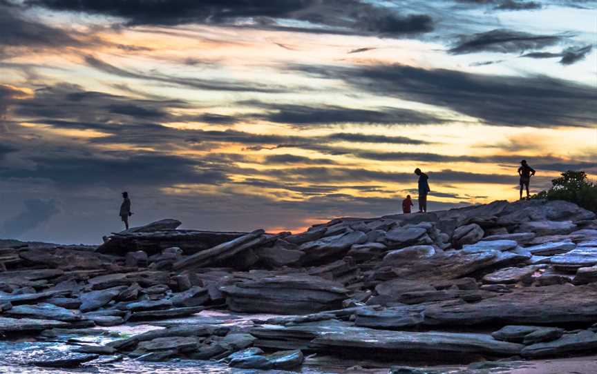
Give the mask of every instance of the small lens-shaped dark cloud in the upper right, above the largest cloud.
<svg viewBox="0 0 597 374">
<path fill-rule="evenodd" d="M 476 52 L 520 53 L 553 46 L 564 37 L 558 35 L 534 35 L 514 30 L 491 30 L 473 35 L 461 35 L 458 43 L 449 50 L 453 55 Z"/>
</svg>

